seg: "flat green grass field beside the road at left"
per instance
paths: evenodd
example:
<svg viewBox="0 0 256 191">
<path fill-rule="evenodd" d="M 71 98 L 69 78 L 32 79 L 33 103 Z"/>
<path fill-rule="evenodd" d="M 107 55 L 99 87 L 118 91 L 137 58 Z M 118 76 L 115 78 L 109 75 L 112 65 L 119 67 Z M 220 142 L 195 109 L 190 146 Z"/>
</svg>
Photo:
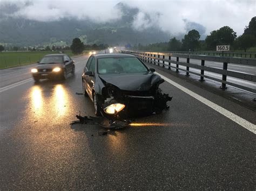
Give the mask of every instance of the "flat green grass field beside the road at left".
<svg viewBox="0 0 256 191">
<path fill-rule="evenodd" d="M 41 51 L 41 52 L 0 52 L 0 68 L 10 68 L 21 65 L 28 65 L 31 63 L 36 63 L 41 60 L 46 54 L 58 53 L 51 51 Z M 64 51 L 65 54 L 73 56 L 71 51 Z"/>
</svg>

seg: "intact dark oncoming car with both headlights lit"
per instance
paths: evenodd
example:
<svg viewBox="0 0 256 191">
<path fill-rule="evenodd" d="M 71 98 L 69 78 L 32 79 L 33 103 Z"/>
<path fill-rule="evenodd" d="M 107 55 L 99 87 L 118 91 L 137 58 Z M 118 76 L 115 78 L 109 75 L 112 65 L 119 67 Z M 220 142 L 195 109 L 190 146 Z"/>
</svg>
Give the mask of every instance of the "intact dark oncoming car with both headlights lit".
<svg viewBox="0 0 256 191">
<path fill-rule="evenodd" d="M 40 79 L 66 79 L 69 73 L 75 74 L 75 61 L 66 54 L 45 55 L 38 65 L 31 69 L 35 82 Z"/>
</svg>

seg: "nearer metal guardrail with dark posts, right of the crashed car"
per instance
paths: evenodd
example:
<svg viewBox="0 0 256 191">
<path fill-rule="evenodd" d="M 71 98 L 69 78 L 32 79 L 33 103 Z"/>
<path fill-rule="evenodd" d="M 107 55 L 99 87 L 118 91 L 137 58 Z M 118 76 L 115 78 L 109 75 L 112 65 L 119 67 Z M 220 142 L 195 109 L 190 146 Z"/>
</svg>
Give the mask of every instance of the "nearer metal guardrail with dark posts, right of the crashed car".
<svg viewBox="0 0 256 191">
<path fill-rule="evenodd" d="M 254 66 L 256 71 L 256 59 L 232 58 L 232 57 L 224 57 L 224 56 L 220 57 L 220 56 L 206 56 L 206 55 L 174 54 L 174 53 L 167 53 L 167 52 L 138 52 L 138 51 L 123 51 L 123 50 L 121 52 L 133 54 L 138 58 L 142 59 L 144 62 L 153 63 L 154 65 L 158 65 L 158 66 L 160 66 L 161 64 L 163 67 L 167 67 L 167 69 L 175 68 L 176 72 L 179 72 L 179 70 L 183 70 L 184 72 L 186 72 L 186 76 L 189 76 L 189 73 L 198 75 L 200 76 L 200 81 L 204 81 L 204 77 L 206 77 L 208 79 L 221 82 L 222 89 L 226 89 L 226 84 L 229 84 L 231 86 L 256 93 L 256 90 L 253 88 L 241 86 L 240 84 L 227 81 L 227 76 L 231 76 L 237 79 L 256 82 L 255 75 L 227 70 L 228 63 L 235 63 L 239 65 Z M 176 61 L 171 60 L 172 57 L 176 57 Z M 186 62 L 180 62 L 179 58 L 185 58 Z M 201 65 L 198 65 L 196 63 L 190 63 L 190 59 L 201 60 Z M 163 63 L 160 63 L 160 61 L 162 61 Z M 205 61 L 222 62 L 223 69 L 205 66 Z M 166 64 L 165 62 L 167 62 L 168 64 Z M 171 63 L 176 64 L 176 66 L 171 66 Z M 179 68 L 179 65 L 186 66 L 186 69 Z M 190 71 L 190 68 L 200 69 L 201 70 L 200 74 Z M 215 77 L 205 75 L 204 74 L 205 71 L 221 74 L 222 79 L 220 80 Z"/>
</svg>

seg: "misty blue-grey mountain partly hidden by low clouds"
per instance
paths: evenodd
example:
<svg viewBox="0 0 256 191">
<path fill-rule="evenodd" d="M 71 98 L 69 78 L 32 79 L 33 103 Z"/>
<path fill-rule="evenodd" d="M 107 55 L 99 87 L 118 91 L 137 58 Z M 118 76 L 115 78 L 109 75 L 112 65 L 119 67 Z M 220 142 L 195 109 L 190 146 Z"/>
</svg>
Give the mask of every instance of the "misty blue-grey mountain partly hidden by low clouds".
<svg viewBox="0 0 256 191">
<path fill-rule="evenodd" d="M 17 8 L 14 7 L 14 9 Z M 79 37 L 87 44 L 125 45 L 157 43 L 170 39 L 169 33 L 154 27 L 135 30 L 132 23 L 134 16 L 139 12 L 137 8 L 118 3 L 114 9 L 122 12 L 122 16 L 104 24 L 90 19 L 65 18 L 52 22 L 39 22 L 25 18 L 5 17 L 0 20 L 0 43 L 12 46 L 45 46 L 64 42 L 70 45 L 73 38 Z"/>
</svg>

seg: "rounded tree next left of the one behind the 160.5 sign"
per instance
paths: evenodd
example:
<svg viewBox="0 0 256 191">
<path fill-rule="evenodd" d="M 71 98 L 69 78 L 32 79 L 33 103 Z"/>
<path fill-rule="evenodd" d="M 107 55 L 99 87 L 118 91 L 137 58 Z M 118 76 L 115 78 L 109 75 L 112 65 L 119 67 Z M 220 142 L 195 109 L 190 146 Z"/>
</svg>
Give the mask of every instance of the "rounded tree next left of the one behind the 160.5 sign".
<svg viewBox="0 0 256 191">
<path fill-rule="evenodd" d="M 188 33 L 185 34 L 184 39 L 182 39 L 184 51 L 188 51 L 189 49 L 191 51 L 194 51 L 195 49 L 199 48 L 199 39 L 200 34 L 197 30 L 193 29 L 191 31 L 188 31 Z"/>
</svg>

